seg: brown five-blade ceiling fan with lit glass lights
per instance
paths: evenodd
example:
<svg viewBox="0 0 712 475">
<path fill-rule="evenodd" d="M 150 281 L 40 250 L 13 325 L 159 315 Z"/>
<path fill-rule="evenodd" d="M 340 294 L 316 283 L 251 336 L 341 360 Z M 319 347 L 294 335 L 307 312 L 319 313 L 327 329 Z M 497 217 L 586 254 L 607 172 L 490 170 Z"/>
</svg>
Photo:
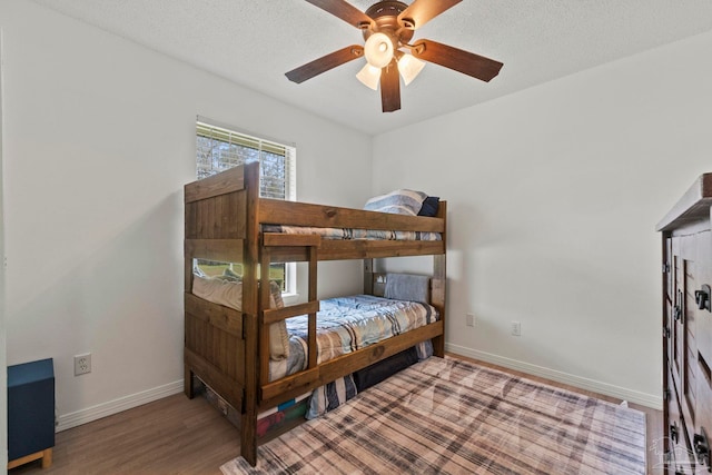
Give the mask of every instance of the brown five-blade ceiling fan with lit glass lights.
<svg viewBox="0 0 712 475">
<path fill-rule="evenodd" d="M 434 62 L 486 82 L 497 76 L 504 66 L 500 61 L 432 40 L 409 42 L 416 29 L 462 0 L 414 0 L 409 6 L 402 1 L 379 1 L 365 12 L 344 0 L 306 1 L 360 29 L 366 42 L 363 47 L 352 44 L 334 51 L 293 69 L 285 76 L 290 81 L 300 83 L 365 56 L 367 63 L 356 77 L 374 90 L 380 85 L 384 112 L 400 109 L 398 75 L 403 76 L 407 86 L 425 66 L 423 61 Z"/>
</svg>

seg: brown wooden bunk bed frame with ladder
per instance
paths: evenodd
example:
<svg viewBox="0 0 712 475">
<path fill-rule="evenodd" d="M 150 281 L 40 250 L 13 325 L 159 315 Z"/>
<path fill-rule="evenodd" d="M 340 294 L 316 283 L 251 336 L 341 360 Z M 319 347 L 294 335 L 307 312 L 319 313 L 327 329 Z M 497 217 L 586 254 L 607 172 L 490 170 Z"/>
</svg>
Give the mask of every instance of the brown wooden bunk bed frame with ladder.
<svg viewBox="0 0 712 475">
<path fill-rule="evenodd" d="M 256 464 L 260 410 L 289 400 L 414 345 L 431 339 L 444 355 L 446 202 L 436 217 L 412 217 L 259 197 L 259 164 L 235 167 L 185 187 L 185 393 L 194 397 L 194 377 L 240 414 L 241 455 Z M 441 240 L 330 240 L 317 235 L 263 231 L 264 224 L 438 232 Z M 383 295 L 374 258 L 433 256 L 431 305 L 439 319 L 405 334 L 317 364 L 317 261 L 364 260 L 364 294 Z M 241 311 L 195 296 L 194 259 L 243 265 Z M 269 308 L 270 263 L 308 263 L 304 304 Z M 258 275 L 259 274 L 259 275 Z M 270 382 L 269 330 L 275 321 L 308 315 L 305 370 Z"/>
</svg>

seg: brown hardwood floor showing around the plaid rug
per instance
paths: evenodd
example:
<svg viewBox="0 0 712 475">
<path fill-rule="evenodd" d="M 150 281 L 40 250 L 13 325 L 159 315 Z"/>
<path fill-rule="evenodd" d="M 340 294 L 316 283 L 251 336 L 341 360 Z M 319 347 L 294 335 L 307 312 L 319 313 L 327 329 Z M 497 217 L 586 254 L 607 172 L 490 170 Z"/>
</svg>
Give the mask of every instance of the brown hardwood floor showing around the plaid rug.
<svg viewBox="0 0 712 475">
<path fill-rule="evenodd" d="M 456 356 L 456 355 L 451 355 Z M 620 400 L 581 390 L 520 372 L 464 358 L 483 366 L 505 370 L 573 392 Z M 647 419 L 647 447 L 662 437 L 662 410 L 630 405 Z M 57 433 L 52 466 L 41 468 L 39 461 L 13 468 L 10 475 L 65 474 L 220 474 L 220 465 L 239 454 L 239 431 L 204 397 L 188 399 L 177 394 L 115 414 L 79 427 Z M 659 461 L 649 449 L 649 475 L 657 475 Z"/>
</svg>

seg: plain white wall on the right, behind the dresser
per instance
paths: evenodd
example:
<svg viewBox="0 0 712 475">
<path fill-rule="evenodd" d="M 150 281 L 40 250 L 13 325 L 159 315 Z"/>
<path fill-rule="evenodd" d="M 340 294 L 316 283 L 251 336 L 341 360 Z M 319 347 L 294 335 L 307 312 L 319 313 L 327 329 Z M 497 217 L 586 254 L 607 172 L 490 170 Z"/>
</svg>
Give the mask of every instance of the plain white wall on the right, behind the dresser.
<svg viewBox="0 0 712 475">
<path fill-rule="evenodd" d="M 451 350 L 661 406 L 654 227 L 712 168 L 710 50 L 706 33 L 375 138 L 375 194 L 448 200 Z"/>
</svg>

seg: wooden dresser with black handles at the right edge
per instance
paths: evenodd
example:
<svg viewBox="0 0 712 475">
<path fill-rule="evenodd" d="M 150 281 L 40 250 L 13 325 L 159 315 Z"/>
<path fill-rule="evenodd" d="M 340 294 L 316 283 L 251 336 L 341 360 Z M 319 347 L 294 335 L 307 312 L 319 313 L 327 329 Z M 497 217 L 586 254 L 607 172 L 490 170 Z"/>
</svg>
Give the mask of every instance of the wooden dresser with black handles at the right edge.
<svg viewBox="0 0 712 475">
<path fill-rule="evenodd" d="M 712 472 L 712 174 L 657 224 L 662 232 L 666 474 Z"/>
</svg>

